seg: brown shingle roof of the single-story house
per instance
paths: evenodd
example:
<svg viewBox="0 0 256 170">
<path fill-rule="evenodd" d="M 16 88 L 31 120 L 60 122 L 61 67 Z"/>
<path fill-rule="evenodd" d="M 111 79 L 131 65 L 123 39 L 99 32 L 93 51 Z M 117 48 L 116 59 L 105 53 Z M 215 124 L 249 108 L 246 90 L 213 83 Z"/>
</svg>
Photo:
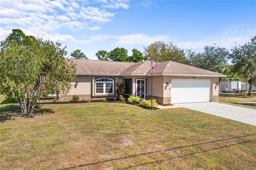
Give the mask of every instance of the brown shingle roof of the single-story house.
<svg viewBox="0 0 256 170">
<path fill-rule="evenodd" d="M 74 59 L 77 65 L 77 73 L 80 74 L 95 74 L 95 75 L 144 75 L 150 73 L 151 61 L 139 63 L 128 63 L 120 61 L 98 61 Z M 154 74 L 181 74 L 181 75 L 219 75 L 224 77 L 224 74 L 192 67 L 174 61 L 164 61 L 155 64 Z"/>
</svg>

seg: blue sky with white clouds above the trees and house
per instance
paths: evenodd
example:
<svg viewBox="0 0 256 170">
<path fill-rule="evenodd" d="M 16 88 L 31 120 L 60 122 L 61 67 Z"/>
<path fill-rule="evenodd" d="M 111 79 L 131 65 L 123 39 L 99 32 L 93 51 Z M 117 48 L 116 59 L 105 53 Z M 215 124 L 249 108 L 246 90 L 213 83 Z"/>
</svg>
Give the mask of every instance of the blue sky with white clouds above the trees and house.
<svg viewBox="0 0 256 170">
<path fill-rule="evenodd" d="M 256 35 L 256 1 L 29 0 L 0 1 L 0 40 L 12 29 L 43 34 L 80 49 L 89 59 L 98 50 L 124 47 L 143 52 L 162 41 L 202 51 L 216 43 L 231 49 Z"/>
</svg>

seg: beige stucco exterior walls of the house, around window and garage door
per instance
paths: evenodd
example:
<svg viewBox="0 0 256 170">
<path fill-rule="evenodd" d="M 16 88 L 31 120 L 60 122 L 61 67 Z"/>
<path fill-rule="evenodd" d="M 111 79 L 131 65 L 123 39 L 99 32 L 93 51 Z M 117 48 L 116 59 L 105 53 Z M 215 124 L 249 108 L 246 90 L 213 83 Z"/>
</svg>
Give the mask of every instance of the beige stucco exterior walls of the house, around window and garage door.
<svg viewBox="0 0 256 170">
<path fill-rule="evenodd" d="M 106 76 L 107 77 L 107 76 Z M 74 81 L 72 83 L 72 88 L 70 89 L 68 95 L 60 95 L 60 97 L 70 97 L 73 95 L 79 95 L 80 97 L 98 97 L 95 95 L 94 80 L 100 78 L 99 76 L 82 76 L 78 75 L 78 85 Z M 132 94 L 136 95 L 136 78 L 147 79 L 146 93 L 148 99 L 151 99 L 151 76 L 126 76 L 126 77 L 108 77 L 112 78 L 118 83 L 122 82 L 123 79 L 132 79 Z M 210 101 L 218 101 L 219 97 L 219 77 L 192 77 L 192 76 L 153 76 L 153 99 L 156 99 L 160 104 L 170 104 L 171 103 L 171 89 L 172 89 L 172 79 L 210 79 L 211 80 L 211 91 L 210 91 Z M 93 83 L 92 83 L 93 82 Z M 166 82 L 170 83 L 169 86 Z M 116 83 L 114 83 L 114 91 L 116 89 Z M 115 95 L 115 94 L 114 94 Z M 112 95 L 112 96 L 114 96 Z"/>
</svg>

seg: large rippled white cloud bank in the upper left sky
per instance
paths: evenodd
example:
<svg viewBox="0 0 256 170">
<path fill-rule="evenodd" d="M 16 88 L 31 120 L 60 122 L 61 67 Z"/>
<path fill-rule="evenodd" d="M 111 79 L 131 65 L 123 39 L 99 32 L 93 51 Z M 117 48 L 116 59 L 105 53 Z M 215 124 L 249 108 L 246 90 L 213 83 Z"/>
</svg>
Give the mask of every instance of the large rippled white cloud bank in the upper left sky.
<svg viewBox="0 0 256 170">
<path fill-rule="evenodd" d="M 1 28 L 5 30 L 12 25 L 24 30 L 38 26 L 38 30 L 49 34 L 66 28 L 74 32 L 100 30 L 101 24 L 112 21 L 114 13 L 90 6 L 88 3 L 90 1 L 1 1 Z"/>
</svg>

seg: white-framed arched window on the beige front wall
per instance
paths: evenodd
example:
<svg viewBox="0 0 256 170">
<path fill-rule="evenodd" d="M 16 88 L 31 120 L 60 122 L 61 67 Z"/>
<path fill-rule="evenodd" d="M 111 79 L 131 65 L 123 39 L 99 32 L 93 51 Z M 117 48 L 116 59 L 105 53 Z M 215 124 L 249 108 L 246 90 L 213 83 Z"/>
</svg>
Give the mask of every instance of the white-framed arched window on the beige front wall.
<svg viewBox="0 0 256 170">
<path fill-rule="evenodd" d="M 96 95 L 113 95 L 114 80 L 109 78 L 100 78 L 95 80 Z"/>
</svg>

